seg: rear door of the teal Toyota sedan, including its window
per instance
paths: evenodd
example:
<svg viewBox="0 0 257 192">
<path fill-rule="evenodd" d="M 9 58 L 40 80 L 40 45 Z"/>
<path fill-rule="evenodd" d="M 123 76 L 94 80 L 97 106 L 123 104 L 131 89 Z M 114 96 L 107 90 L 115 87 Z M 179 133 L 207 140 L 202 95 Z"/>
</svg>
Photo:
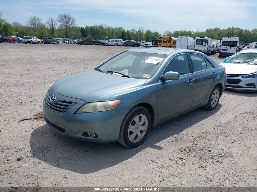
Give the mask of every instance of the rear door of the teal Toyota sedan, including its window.
<svg viewBox="0 0 257 192">
<path fill-rule="evenodd" d="M 190 53 L 189 59 L 193 66 L 195 77 L 195 92 L 192 107 L 208 100 L 210 92 L 217 82 L 217 70 L 202 55 Z"/>
</svg>

